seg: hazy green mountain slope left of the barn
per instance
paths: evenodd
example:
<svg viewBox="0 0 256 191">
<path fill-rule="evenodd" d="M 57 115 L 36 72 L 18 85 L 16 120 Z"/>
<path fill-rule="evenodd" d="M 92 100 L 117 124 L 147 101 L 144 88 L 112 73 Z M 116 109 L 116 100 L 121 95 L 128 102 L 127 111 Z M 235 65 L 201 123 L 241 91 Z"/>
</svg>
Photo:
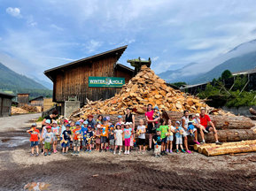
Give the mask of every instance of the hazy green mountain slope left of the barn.
<svg viewBox="0 0 256 191">
<path fill-rule="evenodd" d="M 10 68 L 0 63 L 0 89 L 20 90 L 20 89 L 48 89 L 42 84 L 27 78 L 25 75 L 13 72 Z"/>
</svg>

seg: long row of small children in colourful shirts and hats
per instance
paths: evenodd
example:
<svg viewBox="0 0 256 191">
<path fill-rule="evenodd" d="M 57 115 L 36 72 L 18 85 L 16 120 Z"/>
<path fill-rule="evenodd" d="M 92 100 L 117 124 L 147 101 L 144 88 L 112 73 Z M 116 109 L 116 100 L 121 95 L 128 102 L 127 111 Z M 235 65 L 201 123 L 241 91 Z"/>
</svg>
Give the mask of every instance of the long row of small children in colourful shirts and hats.
<svg viewBox="0 0 256 191">
<path fill-rule="evenodd" d="M 193 136 L 193 129 L 198 123 L 197 120 L 199 120 L 198 115 L 195 118 L 190 118 L 188 130 L 191 136 Z M 160 126 L 156 129 L 157 134 L 152 137 L 155 157 L 172 153 L 174 138 L 176 152 L 179 152 L 180 147 L 182 153 L 185 153 L 182 147 L 184 129 L 180 121 L 175 121 L 175 126 L 171 120 L 166 123 L 161 118 L 159 122 Z M 114 155 L 120 155 L 122 151 L 125 155 L 129 155 L 131 149 L 136 145 L 141 153 L 145 153 L 146 149 L 146 126 L 144 126 L 143 118 L 140 118 L 136 129 L 133 123 L 123 122 L 122 116 L 118 116 L 118 122 L 115 124 L 110 122 L 109 117 L 103 118 L 101 115 L 96 121 L 93 116 L 89 116 L 86 120 L 80 119 L 76 122 L 60 120 L 59 124 L 57 121 L 50 123 L 50 119 L 47 119 L 41 134 L 36 129 L 36 124 L 33 124 L 27 133 L 30 134 L 31 156 L 35 155 L 36 157 L 39 156 L 39 145 L 42 146 L 44 156 L 50 156 L 51 151 L 57 153 L 58 141 L 63 155 L 67 155 L 69 149 L 73 149 L 72 155 L 76 156 L 80 154 L 81 149 L 89 153 L 92 149 L 99 152 L 109 150 Z"/>
</svg>

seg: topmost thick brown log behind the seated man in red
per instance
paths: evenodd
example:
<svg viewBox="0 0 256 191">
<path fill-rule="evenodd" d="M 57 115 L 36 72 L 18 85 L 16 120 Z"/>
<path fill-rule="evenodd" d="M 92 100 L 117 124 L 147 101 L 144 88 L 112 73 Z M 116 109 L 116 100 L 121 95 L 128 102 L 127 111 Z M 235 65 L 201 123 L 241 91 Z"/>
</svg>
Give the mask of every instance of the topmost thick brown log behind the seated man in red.
<svg viewBox="0 0 256 191">
<path fill-rule="evenodd" d="M 181 120 L 182 113 L 177 111 L 163 111 L 162 117 L 172 121 Z M 216 129 L 250 129 L 254 125 L 251 118 L 244 116 L 220 116 L 210 115 Z"/>
</svg>

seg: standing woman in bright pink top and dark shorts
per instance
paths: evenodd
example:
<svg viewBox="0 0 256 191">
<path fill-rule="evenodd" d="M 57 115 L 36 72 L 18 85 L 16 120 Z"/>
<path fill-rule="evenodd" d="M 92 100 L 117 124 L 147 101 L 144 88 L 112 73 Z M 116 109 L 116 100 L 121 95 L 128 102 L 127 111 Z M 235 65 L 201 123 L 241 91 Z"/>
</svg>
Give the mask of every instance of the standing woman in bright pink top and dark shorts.
<svg viewBox="0 0 256 191">
<path fill-rule="evenodd" d="M 147 132 L 149 134 L 149 148 L 152 148 L 152 134 L 155 134 L 155 130 L 153 130 L 153 115 L 154 111 L 152 110 L 152 105 L 148 104 L 147 111 L 145 112 L 146 121 L 148 122 Z"/>
</svg>

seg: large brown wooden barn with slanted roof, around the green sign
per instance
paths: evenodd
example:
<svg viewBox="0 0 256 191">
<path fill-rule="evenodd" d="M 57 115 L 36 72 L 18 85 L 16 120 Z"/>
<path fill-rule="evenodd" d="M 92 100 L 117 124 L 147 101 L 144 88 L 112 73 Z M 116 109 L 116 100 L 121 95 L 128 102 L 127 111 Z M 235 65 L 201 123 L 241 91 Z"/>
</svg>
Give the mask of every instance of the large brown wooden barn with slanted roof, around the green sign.
<svg viewBox="0 0 256 191">
<path fill-rule="evenodd" d="M 123 46 L 45 71 L 53 82 L 53 102 L 64 103 L 68 97 L 77 96 L 81 104 L 85 104 L 86 98 L 104 100 L 118 93 L 120 88 L 89 88 L 89 77 L 122 77 L 127 83 L 134 71 L 116 64 L 126 49 L 127 46 Z"/>
</svg>

